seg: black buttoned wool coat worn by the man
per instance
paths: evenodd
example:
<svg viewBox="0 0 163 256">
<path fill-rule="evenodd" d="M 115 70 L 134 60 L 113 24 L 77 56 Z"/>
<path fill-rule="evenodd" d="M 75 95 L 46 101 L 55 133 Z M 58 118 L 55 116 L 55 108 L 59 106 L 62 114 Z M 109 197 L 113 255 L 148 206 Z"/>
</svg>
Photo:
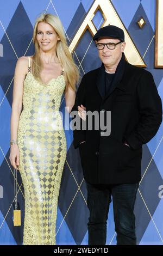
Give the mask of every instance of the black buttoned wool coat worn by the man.
<svg viewBox="0 0 163 256">
<path fill-rule="evenodd" d="M 73 145 L 79 147 L 84 178 L 91 184 L 139 182 L 142 144 L 154 137 L 162 121 L 161 99 L 153 76 L 126 62 L 123 53 L 106 95 L 104 84 L 102 64 L 83 76 L 72 108 L 72 113 L 81 104 L 86 111 L 111 111 L 109 136 L 103 136 L 101 129 L 73 127 Z"/>
</svg>

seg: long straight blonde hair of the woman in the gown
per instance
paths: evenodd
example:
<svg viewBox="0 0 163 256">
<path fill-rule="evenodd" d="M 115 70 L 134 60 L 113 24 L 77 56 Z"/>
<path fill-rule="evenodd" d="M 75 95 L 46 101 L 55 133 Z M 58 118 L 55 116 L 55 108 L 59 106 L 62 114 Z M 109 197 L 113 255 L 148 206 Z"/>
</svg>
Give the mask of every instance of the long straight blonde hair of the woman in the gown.
<svg viewBox="0 0 163 256">
<path fill-rule="evenodd" d="M 62 23 L 57 16 L 52 14 L 41 14 L 41 16 L 36 19 L 36 23 L 34 26 L 33 42 L 35 46 L 35 53 L 33 56 L 32 72 L 35 79 L 42 83 L 40 77 L 40 71 L 42 68 L 42 62 L 39 54 L 40 46 L 36 39 L 37 26 L 40 22 L 46 22 L 51 25 L 54 28 L 55 32 L 59 35 L 60 40 L 57 42 L 56 54 L 59 62 L 62 65 L 62 68 L 64 68 L 66 90 L 68 87 L 70 87 L 72 90 L 76 90 L 76 83 L 79 81 L 78 68 L 73 61 L 70 51 L 68 50 L 68 45 L 66 42 L 66 36 L 62 27 Z"/>
</svg>

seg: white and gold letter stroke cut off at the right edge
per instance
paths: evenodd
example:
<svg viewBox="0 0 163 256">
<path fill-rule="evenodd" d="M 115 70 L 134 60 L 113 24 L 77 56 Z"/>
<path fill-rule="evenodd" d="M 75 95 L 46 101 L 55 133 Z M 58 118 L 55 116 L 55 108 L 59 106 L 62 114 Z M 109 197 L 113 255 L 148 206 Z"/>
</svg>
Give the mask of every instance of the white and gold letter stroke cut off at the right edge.
<svg viewBox="0 0 163 256">
<path fill-rule="evenodd" d="M 155 68 L 163 68 L 163 1 L 156 1 Z"/>
</svg>

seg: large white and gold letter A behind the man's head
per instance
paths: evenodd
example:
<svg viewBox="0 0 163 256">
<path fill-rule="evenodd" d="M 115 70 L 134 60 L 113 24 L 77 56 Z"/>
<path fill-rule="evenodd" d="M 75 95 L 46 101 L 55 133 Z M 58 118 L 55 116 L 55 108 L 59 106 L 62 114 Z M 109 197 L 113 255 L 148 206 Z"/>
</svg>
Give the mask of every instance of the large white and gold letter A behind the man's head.
<svg viewBox="0 0 163 256">
<path fill-rule="evenodd" d="M 74 51 L 74 49 L 78 45 L 78 42 L 80 41 L 80 39 L 82 38 L 87 29 L 89 30 L 92 36 L 96 34 L 97 30 L 92 22 L 92 19 L 95 16 L 97 10 L 100 10 L 104 17 L 104 22 L 101 27 L 107 25 L 115 25 L 123 29 L 126 41 L 126 48 L 124 53 L 126 55 L 128 62 L 136 66 L 145 67 L 146 64 L 144 60 L 142 59 L 139 51 L 137 50 L 133 40 L 130 38 L 127 29 L 124 27 L 123 22 L 120 19 L 120 16 L 118 16 L 110 0 L 96 0 L 92 4 L 89 13 L 87 13 L 82 25 L 79 27 L 76 35 L 74 36 L 71 42 L 70 51 Z"/>
</svg>

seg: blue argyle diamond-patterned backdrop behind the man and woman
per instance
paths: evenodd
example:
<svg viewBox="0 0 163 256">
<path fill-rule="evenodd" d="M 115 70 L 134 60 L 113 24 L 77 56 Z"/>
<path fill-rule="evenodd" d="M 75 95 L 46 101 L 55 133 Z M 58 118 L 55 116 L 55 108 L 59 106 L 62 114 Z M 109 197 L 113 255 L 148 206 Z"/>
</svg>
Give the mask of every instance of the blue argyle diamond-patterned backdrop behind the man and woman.
<svg viewBox="0 0 163 256">
<path fill-rule="evenodd" d="M 96 0 L 95 0 L 96 1 Z M 108 1 L 108 0 L 102 0 Z M 0 244 L 21 245 L 23 241 L 24 191 L 18 173 L 18 202 L 21 204 L 22 225 L 14 227 L 12 202 L 14 200 L 14 176 L 9 161 L 10 115 L 12 87 L 17 58 L 34 53 L 32 34 L 35 19 L 44 10 L 58 15 L 70 44 L 79 26 L 89 11 L 93 0 L 1 0 L 0 1 Z M 151 71 L 163 100 L 163 70 L 154 69 L 155 1 L 112 0 L 142 58 Z M 143 17 L 146 25 L 140 29 L 137 20 Z M 103 17 L 97 12 L 93 22 L 99 28 Z M 74 52 L 74 59 L 83 76 L 100 65 L 92 36 L 86 31 Z M 64 112 L 62 96 L 60 109 Z M 68 124 L 65 124 L 68 125 Z M 58 245 L 87 244 L 86 187 L 78 150 L 72 145 L 72 131 L 65 131 L 67 158 L 61 181 L 56 239 Z M 136 233 L 139 245 L 163 245 L 163 199 L 159 187 L 163 185 L 163 124 L 156 136 L 143 147 L 142 180 L 135 204 Z M 116 244 L 112 204 L 108 218 L 106 243 Z"/>
</svg>

